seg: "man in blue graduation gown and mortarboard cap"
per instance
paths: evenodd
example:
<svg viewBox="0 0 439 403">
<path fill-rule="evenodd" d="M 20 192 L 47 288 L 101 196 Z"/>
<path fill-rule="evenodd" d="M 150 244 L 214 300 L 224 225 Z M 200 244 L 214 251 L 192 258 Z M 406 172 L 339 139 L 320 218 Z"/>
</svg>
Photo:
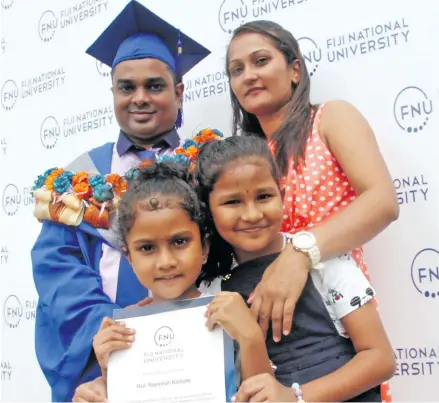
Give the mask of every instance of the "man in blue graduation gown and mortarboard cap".
<svg viewBox="0 0 439 403">
<path fill-rule="evenodd" d="M 123 175 L 179 143 L 182 76 L 209 51 L 130 1 L 87 53 L 112 68 L 114 111 L 121 128 L 109 142 L 63 167 Z M 31 252 L 39 301 L 38 362 L 53 401 L 71 401 L 78 384 L 100 376 L 92 343 L 105 316 L 148 296 L 121 254 L 114 232 L 82 221 L 45 220 Z"/>
</svg>

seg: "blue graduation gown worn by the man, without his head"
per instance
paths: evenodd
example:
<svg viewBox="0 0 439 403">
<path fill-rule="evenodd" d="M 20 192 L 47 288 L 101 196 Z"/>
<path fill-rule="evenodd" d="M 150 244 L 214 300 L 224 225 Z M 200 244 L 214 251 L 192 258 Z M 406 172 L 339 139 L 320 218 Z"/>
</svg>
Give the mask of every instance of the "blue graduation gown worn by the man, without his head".
<svg viewBox="0 0 439 403">
<path fill-rule="evenodd" d="M 115 155 L 115 144 L 107 143 L 84 153 L 66 169 L 106 175 L 114 172 Z M 96 229 L 86 222 L 69 227 L 44 221 L 31 251 L 39 296 L 35 350 L 53 401 L 71 401 L 79 384 L 101 375 L 92 343 L 102 319 L 112 317 L 113 309 L 148 296 L 116 244 L 111 229 Z M 119 265 L 109 281 L 113 293 L 106 292 L 101 275 L 105 250 Z"/>
</svg>

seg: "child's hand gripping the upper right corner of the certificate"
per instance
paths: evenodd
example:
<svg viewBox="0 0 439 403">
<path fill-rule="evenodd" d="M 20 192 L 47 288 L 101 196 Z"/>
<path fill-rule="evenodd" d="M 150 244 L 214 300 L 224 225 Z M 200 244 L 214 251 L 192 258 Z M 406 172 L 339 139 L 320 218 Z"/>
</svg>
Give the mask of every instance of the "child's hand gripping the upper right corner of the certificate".
<svg viewBox="0 0 439 403">
<path fill-rule="evenodd" d="M 218 293 L 209 304 L 205 315 L 209 330 L 219 325 L 238 342 L 262 334 L 250 309 L 236 292 Z"/>
</svg>

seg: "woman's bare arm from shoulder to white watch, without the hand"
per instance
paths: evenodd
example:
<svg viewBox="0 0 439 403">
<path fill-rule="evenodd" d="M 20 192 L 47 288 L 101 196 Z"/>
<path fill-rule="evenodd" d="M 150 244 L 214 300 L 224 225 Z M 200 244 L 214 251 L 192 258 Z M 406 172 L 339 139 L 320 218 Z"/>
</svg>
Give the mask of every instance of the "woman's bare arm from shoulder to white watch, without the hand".
<svg viewBox="0 0 439 403">
<path fill-rule="evenodd" d="M 322 260 L 327 260 L 369 242 L 398 218 L 399 205 L 374 133 L 354 106 L 343 101 L 325 105 L 320 133 L 357 194 L 311 230 Z"/>
</svg>

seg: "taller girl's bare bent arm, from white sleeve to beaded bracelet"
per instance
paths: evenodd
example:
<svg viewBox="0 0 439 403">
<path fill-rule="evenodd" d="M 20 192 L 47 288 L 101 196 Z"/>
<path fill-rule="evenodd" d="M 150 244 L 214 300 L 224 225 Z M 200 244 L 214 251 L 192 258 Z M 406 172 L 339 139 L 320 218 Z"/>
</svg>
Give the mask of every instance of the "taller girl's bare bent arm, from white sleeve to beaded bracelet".
<svg viewBox="0 0 439 403">
<path fill-rule="evenodd" d="M 301 386 L 310 402 L 342 402 L 390 379 L 396 361 L 372 301 L 342 319 L 357 354 L 329 375 Z"/>
</svg>

